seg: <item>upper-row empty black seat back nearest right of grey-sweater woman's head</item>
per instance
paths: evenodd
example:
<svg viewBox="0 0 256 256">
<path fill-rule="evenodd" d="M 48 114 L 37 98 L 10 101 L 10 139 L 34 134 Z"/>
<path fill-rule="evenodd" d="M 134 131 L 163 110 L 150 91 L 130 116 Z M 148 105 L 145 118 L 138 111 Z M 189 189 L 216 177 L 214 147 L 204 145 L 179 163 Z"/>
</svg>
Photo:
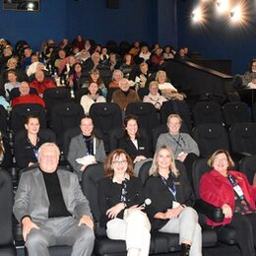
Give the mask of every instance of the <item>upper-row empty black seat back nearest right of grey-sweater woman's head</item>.
<svg viewBox="0 0 256 256">
<path fill-rule="evenodd" d="M 197 102 L 193 108 L 194 126 L 204 123 L 223 123 L 221 105 L 215 101 Z"/>
</svg>

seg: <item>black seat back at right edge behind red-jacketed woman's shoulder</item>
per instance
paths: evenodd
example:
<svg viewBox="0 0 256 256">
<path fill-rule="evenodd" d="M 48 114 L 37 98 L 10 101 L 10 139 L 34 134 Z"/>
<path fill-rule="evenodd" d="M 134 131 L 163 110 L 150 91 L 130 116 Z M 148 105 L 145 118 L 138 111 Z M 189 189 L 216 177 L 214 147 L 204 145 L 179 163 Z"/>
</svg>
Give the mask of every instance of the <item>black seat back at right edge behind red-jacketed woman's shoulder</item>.
<svg viewBox="0 0 256 256">
<path fill-rule="evenodd" d="M 247 156 L 240 160 L 239 170 L 247 176 L 249 183 L 253 185 L 256 174 L 256 156 Z"/>
</svg>

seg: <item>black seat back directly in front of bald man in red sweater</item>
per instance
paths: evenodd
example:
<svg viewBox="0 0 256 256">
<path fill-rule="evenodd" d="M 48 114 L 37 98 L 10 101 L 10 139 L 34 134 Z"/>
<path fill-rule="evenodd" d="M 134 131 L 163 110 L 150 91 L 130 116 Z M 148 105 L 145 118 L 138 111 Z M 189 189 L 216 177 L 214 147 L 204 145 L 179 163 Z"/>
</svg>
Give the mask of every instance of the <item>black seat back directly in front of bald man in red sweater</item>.
<svg viewBox="0 0 256 256">
<path fill-rule="evenodd" d="M 11 111 L 11 129 L 17 133 L 25 129 L 27 116 L 36 115 L 39 118 L 41 128 L 46 127 L 45 110 L 40 104 L 19 104 L 15 105 Z"/>
</svg>

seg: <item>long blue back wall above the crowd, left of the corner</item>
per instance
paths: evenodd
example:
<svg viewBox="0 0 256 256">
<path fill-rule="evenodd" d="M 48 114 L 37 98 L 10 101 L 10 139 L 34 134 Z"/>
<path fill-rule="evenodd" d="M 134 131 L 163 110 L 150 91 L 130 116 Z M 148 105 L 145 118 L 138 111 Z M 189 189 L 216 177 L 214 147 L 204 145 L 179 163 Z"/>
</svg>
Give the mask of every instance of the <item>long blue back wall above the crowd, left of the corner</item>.
<svg viewBox="0 0 256 256">
<path fill-rule="evenodd" d="M 139 39 L 176 46 L 175 2 L 119 0 L 115 10 L 107 9 L 105 0 L 41 0 L 40 11 L 34 13 L 0 8 L 0 37 L 13 43 L 27 39 L 34 50 L 47 38 L 58 42 L 78 33 L 102 44 L 108 39 Z"/>
</svg>

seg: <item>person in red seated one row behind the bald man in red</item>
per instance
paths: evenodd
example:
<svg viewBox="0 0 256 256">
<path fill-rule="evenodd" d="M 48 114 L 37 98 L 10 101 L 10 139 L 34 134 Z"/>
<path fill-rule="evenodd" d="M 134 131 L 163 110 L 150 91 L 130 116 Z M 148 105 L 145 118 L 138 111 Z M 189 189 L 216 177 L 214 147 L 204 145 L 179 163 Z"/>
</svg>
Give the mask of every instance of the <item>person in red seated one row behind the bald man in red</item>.
<svg viewBox="0 0 256 256">
<path fill-rule="evenodd" d="M 52 80 L 45 78 L 42 70 L 37 70 L 34 73 L 34 77 L 35 80 L 32 81 L 30 87 L 36 89 L 38 96 L 42 97 L 43 92 L 48 88 L 56 88 L 56 85 Z"/>
</svg>

